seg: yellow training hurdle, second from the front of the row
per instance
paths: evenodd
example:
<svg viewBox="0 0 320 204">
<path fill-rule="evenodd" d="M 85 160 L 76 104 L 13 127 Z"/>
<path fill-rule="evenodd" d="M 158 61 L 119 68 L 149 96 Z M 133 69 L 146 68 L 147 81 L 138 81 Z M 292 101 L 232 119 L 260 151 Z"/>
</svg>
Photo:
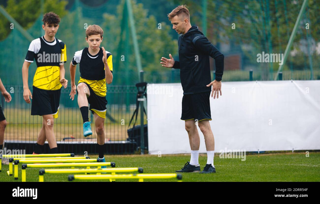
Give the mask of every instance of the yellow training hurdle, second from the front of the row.
<svg viewBox="0 0 320 204">
<path fill-rule="evenodd" d="M 44 182 L 44 174 L 84 174 L 84 173 L 111 173 L 116 175 L 116 172 L 138 172 L 143 173 L 141 167 L 131 168 L 108 168 L 108 169 L 41 169 L 39 170 L 39 182 Z M 113 179 L 112 179 L 113 180 Z"/>
</svg>

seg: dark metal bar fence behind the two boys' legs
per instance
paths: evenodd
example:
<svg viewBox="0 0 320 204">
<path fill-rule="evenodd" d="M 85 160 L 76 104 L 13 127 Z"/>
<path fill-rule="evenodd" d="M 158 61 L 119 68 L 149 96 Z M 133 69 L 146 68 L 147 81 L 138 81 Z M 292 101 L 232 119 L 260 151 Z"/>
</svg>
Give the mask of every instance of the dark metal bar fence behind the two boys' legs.
<svg viewBox="0 0 320 204">
<path fill-rule="evenodd" d="M 32 153 L 43 119 L 41 116 L 30 115 L 31 104 L 24 101 L 22 86 L 5 86 L 5 88 L 12 96 L 10 103 L 6 103 L 4 97 L 1 96 L 1 106 L 8 122 L 5 129 L 5 147 L 7 149 L 26 149 L 27 153 Z M 32 92 L 32 87 L 29 88 Z M 54 134 L 58 150 L 62 153 L 84 153 L 85 151 L 97 153 L 93 115 L 89 111 L 93 135 L 84 138 L 77 95 L 71 101 L 70 90 L 70 86 L 66 89 L 62 88 L 59 117 L 54 119 Z M 137 88 L 134 85 L 108 86 L 107 115 L 104 125 L 106 153 L 134 153 L 137 150 L 137 144 L 127 141 L 128 124 L 136 108 L 136 95 Z M 140 124 L 140 120 L 137 121 L 137 124 Z M 45 146 L 48 152 L 49 146 L 47 144 Z"/>
</svg>

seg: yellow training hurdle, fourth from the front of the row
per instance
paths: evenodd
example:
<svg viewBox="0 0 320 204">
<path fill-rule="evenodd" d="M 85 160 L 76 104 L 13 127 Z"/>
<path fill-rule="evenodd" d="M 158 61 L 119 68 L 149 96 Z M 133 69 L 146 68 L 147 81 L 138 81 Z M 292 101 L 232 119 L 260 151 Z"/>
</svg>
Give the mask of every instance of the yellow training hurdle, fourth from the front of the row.
<svg viewBox="0 0 320 204">
<path fill-rule="evenodd" d="M 19 163 L 22 163 L 22 164 L 41 163 L 42 164 L 42 163 L 74 163 L 74 162 L 80 163 L 80 162 L 101 162 L 101 161 L 102 161 L 102 159 L 44 159 L 44 160 L 18 159 L 16 161 L 14 161 L 14 179 L 18 180 L 18 164 Z M 16 171 L 16 169 L 17 169 L 17 171 Z"/>
</svg>

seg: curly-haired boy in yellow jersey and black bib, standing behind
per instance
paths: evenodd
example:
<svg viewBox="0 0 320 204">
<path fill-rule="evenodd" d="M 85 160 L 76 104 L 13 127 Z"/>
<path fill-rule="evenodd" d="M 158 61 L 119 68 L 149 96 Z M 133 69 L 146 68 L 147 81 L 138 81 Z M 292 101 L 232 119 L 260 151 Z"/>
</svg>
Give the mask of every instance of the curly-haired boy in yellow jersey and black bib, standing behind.
<svg viewBox="0 0 320 204">
<path fill-rule="evenodd" d="M 57 142 L 53 132 L 54 118 L 58 118 L 61 87 L 67 87 L 63 63 L 67 62 L 66 45 L 55 38 L 60 18 L 53 12 L 43 17 L 44 36 L 30 43 L 22 66 L 23 99 L 31 103 L 31 115 L 41 115 L 42 128 L 37 138 L 34 154 L 44 152 L 44 142 L 48 140 L 50 153 L 57 153 Z M 28 86 L 28 69 L 36 59 L 37 69 L 33 77 L 33 93 Z M 30 101 L 32 99 L 32 102 Z"/>
</svg>

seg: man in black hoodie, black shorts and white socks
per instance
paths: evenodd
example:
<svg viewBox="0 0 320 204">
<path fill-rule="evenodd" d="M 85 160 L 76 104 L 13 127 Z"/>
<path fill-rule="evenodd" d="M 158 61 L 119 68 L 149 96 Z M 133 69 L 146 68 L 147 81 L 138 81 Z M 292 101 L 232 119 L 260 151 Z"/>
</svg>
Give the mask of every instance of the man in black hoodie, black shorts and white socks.
<svg viewBox="0 0 320 204">
<path fill-rule="evenodd" d="M 198 162 L 200 137 L 196 124 L 204 135 L 207 149 L 207 163 L 200 173 L 215 173 L 213 165 L 214 137 L 210 127 L 210 92 L 211 97 L 219 98 L 223 75 L 223 54 L 209 42 L 197 26 L 191 26 L 189 10 L 185 5 L 178 6 L 168 14 L 172 28 L 182 34 L 178 40 L 179 60 L 162 57 L 163 67 L 180 69 L 180 80 L 183 89 L 181 120 L 189 135 L 191 159 L 181 170 L 176 172 L 200 172 Z M 215 59 L 216 77 L 211 82 L 209 56 Z M 219 92 L 218 92 L 219 91 Z M 194 120 L 196 122 L 194 122 Z"/>
</svg>

